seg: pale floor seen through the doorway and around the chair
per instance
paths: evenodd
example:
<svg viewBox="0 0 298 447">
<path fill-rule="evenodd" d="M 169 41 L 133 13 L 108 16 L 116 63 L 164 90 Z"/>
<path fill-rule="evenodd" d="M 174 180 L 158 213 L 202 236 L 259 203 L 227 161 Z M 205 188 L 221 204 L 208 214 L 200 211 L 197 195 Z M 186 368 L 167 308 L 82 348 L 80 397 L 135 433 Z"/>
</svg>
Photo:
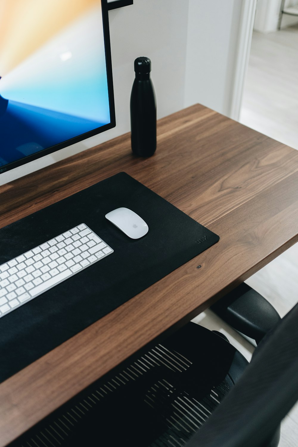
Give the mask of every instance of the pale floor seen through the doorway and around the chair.
<svg viewBox="0 0 298 447">
<path fill-rule="evenodd" d="M 298 150 L 298 25 L 274 33 L 253 33 L 239 121 Z M 246 281 L 281 316 L 298 301 L 298 244 Z M 250 360 L 254 347 L 211 311 L 193 321 L 225 333 Z M 298 446 L 298 404 L 281 426 L 279 447 Z"/>
</svg>

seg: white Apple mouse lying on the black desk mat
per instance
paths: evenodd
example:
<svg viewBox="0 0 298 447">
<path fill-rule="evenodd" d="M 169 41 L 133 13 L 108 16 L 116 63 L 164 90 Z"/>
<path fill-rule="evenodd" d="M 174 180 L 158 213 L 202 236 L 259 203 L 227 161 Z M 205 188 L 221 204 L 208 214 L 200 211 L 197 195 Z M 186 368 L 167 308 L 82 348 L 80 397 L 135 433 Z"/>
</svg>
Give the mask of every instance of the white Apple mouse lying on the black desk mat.
<svg viewBox="0 0 298 447">
<path fill-rule="evenodd" d="M 128 208 L 117 208 L 105 217 L 131 239 L 139 239 L 147 234 L 147 223 L 134 211 Z"/>
</svg>

